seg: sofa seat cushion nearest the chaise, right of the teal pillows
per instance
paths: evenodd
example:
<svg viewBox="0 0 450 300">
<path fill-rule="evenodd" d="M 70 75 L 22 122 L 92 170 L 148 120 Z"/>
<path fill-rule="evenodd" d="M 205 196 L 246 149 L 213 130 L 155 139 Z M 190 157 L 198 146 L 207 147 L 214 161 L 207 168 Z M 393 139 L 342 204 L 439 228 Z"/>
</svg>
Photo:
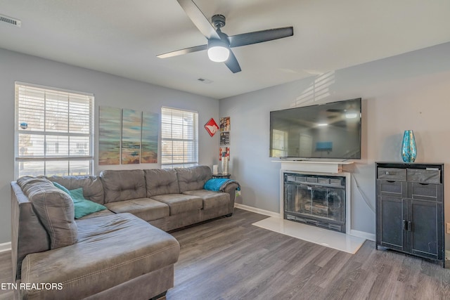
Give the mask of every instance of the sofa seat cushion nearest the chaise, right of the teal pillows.
<svg viewBox="0 0 450 300">
<path fill-rule="evenodd" d="M 162 202 L 152 200 L 150 198 L 131 199 L 120 202 L 106 203 L 110 211 L 120 214 L 129 212 L 144 221 L 153 221 L 169 216 L 169 206 Z"/>
</svg>

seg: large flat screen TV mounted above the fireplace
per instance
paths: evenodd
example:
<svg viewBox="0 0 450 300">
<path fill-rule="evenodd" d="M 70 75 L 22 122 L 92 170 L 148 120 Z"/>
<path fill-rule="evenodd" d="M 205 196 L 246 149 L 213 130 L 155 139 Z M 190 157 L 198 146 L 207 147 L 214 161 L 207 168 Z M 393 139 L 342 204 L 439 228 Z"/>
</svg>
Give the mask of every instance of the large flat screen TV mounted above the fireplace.
<svg viewBox="0 0 450 300">
<path fill-rule="evenodd" d="M 270 157 L 361 158 L 361 98 L 270 112 Z"/>
</svg>

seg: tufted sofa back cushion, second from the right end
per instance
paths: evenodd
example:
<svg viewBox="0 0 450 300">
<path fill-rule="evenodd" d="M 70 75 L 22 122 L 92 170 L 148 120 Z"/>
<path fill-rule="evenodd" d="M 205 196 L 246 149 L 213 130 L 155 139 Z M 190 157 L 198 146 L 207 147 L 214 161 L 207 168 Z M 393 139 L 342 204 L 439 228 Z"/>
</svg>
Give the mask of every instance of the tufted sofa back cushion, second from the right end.
<svg viewBox="0 0 450 300">
<path fill-rule="evenodd" d="M 147 169 L 146 174 L 147 197 L 179 194 L 178 179 L 173 169 Z"/>
</svg>

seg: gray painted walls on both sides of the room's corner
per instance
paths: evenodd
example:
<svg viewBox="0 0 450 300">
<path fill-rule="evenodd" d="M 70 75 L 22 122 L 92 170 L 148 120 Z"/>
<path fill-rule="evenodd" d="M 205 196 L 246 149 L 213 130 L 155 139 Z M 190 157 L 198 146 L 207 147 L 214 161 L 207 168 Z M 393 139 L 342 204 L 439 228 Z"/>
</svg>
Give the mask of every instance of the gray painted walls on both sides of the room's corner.
<svg viewBox="0 0 450 300">
<path fill-rule="evenodd" d="M 230 169 L 242 185 L 237 202 L 274 212 L 279 210 L 280 164 L 269 158 L 269 112 L 361 97 L 362 159 L 352 167 L 352 229 L 375 233 L 373 163 L 401 161 L 399 148 L 406 129 L 416 134 L 416 162 L 446 164 L 446 221 L 450 221 L 448 53 L 450 43 L 218 101 L 0 49 L 0 243 L 11 240 L 14 81 L 94 93 L 96 115 L 99 105 L 148 112 L 160 112 L 161 105 L 198 110 L 200 164 L 210 166 L 217 164 L 219 137 L 210 138 L 202 126 L 210 117 L 217 122 L 219 117 L 231 117 Z M 159 164 L 126 167 L 155 168 Z M 96 166 L 96 174 L 100 170 Z M 449 237 L 446 244 L 450 245 Z"/>
</svg>

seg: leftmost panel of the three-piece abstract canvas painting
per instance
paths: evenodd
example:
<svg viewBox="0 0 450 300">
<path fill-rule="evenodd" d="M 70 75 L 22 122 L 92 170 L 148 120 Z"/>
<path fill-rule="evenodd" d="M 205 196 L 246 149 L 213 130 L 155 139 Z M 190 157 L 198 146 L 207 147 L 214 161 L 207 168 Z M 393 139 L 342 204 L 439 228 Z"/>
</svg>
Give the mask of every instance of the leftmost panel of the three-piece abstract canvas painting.
<svg viewBox="0 0 450 300">
<path fill-rule="evenodd" d="M 98 118 L 98 164 L 120 164 L 122 110 L 101 106 Z"/>
</svg>

